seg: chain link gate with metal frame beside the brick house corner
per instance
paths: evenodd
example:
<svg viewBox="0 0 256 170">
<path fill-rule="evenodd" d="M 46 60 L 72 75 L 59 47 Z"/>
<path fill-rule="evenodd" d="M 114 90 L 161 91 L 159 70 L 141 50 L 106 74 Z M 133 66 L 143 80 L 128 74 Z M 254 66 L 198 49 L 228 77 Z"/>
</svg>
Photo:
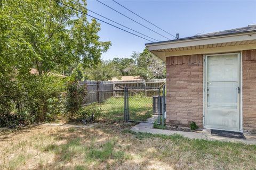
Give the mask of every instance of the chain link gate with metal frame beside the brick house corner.
<svg viewBox="0 0 256 170">
<path fill-rule="evenodd" d="M 125 87 L 125 122 L 144 122 L 164 125 L 164 113 L 165 85 L 162 87 Z"/>
</svg>

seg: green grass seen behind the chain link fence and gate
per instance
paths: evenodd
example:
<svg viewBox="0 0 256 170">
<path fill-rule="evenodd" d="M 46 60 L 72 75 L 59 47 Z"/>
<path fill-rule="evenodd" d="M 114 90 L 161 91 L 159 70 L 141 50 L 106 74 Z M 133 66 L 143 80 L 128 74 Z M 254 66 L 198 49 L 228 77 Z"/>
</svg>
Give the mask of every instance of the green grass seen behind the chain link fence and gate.
<svg viewBox="0 0 256 170">
<path fill-rule="evenodd" d="M 152 98 L 145 96 L 129 97 L 130 120 L 145 121 L 152 116 Z M 100 120 L 105 122 L 121 122 L 124 120 L 124 98 L 109 98 L 99 104 L 102 111 Z"/>
</svg>

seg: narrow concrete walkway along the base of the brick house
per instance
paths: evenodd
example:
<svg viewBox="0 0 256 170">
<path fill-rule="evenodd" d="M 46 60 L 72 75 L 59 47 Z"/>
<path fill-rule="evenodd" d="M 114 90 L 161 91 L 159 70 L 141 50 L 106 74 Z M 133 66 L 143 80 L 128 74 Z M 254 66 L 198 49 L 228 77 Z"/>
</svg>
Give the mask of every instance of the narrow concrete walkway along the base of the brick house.
<svg viewBox="0 0 256 170">
<path fill-rule="evenodd" d="M 149 118 L 149 120 L 147 120 L 147 121 L 151 122 L 151 119 L 152 118 Z M 166 135 L 180 134 L 183 137 L 186 137 L 189 139 L 205 139 L 205 140 L 211 140 L 211 141 L 217 140 L 217 141 L 227 141 L 227 142 L 243 142 L 247 145 L 256 145 L 256 137 L 253 135 L 245 134 L 245 133 L 244 133 L 244 136 L 245 136 L 246 140 L 213 136 L 213 135 L 211 135 L 211 131 L 209 129 L 204 129 L 203 131 L 198 131 L 198 132 L 183 132 L 183 131 L 154 129 L 153 123 L 139 123 L 139 124 L 133 126 L 131 128 L 131 130 L 134 132 L 146 132 L 146 133 L 152 133 L 152 134 L 166 134 Z"/>
</svg>

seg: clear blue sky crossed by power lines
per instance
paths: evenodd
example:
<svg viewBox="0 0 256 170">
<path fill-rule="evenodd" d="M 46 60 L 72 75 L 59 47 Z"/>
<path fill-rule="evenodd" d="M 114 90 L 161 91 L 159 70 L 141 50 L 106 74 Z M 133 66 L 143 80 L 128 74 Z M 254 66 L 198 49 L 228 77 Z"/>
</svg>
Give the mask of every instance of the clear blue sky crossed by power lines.
<svg viewBox="0 0 256 170">
<path fill-rule="evenodd" d="M 125 10 L 113 1 L 100 0 L 115 8 L 130 18 L 146 25 L 147 27 L 173 39 L 172 36 L 155 28 L 153 25 L 138 18 L 138 16 Z M 170 32 L 172 35 L 179 33 L 180 38 L 194 36 L 197 33 L 215 32 L 256 23 L 256 0 L 254 1 L 120 1 L 118 3 L 139 14 L 143 18 L 158 25 L 158 27 Z M 95 0 L 87 1 L 87 8 L 97 12 L 118 23 L 142 32 L 145 35 L 159 41 L 167 40 L 143 28 L 141 25 L 125 18 L 110 8 Z M 93 16 L 97 16 L 88 12 Z M 97 16 L 100 18 L 100 16 Z M 90 18 L 89 18 L 90 19 Z M 101 19 L 101 18 L 100 18 Z M 105 19 L 103 19 L 105 20 Z M 110 21 L 108 21 L 110 22 Z M 118 26 L 119 27 L 119 26 Z M 142 52 L 147 40 L 135 37 L 124 31 L 118 30 L 110 25 L 101 23 L 99 32 L 101 41 L 111 41 L 112 46 L 107 53 L 102 54 L 103 60 L 114 57 L 130 57 L 133 51 Z"/>
</svg>

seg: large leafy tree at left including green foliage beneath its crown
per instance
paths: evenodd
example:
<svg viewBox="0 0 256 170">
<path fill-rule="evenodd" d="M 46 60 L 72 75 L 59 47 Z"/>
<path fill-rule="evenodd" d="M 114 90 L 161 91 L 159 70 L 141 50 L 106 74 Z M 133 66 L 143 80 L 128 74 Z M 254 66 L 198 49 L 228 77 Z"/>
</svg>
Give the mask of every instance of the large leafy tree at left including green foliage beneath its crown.
<svg viewBox="0 0 256 170">
<path fill-rule="evenodd" d="M 68 0 L 61 2 L 79 8 Z M 85 0 L 74 2 L 86 6 Z M 84 8 L 79 10 L 86 13 Z M 51 117 L 65 82 L 48 73 L 79 63 L 97 65 L 111 45 L 99 41 L 99 31 L 94 19 L 89 22 L 85 14 L 53 0 L 1 0 L 0 96 L 5 102 L 0 104 L 0 117 L 7 115 L 0 119 L 3 126 L 20 113 L 36 121 Z M 31 75 L 31 68 L 38 75 Z M 15 109 L 18 104 L 22 110 Z"/>
</svg>

